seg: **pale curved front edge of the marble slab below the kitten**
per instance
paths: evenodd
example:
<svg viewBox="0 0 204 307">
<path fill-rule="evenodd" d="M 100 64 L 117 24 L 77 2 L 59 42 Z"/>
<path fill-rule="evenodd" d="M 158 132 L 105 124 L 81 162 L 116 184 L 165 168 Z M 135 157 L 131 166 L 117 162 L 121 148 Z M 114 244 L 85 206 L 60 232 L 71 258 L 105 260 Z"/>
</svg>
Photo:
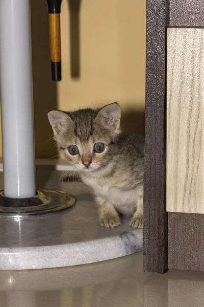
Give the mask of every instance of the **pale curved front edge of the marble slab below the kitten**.
<svg viewBox="0 0 204 307">
<path fill-rule="evenodd" d="M 115 259 L 142 251 L 142 239 L 142 229 L 134 229 L 132 232 L 93 242 L 1 248 L 0 270 L 60 268 Z"/>
</svg>

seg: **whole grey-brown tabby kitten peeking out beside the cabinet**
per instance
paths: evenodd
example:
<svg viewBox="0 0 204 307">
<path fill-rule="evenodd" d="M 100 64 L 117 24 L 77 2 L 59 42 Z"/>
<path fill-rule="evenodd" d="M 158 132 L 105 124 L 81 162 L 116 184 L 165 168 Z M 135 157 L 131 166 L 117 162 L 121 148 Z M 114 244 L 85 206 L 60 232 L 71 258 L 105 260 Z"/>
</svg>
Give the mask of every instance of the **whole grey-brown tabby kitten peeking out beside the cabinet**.
<svg viewBox="0 0 204 307">
<path fill-rule="evenodd" d="M 144 139 L 123 136 L 117 103 L 101 109 L 50 111 L 48 119 L 70 170 L 80 173 L 94 193 L 99 224 L 120 225 L 118 212 L 143 227 Z"/>
</svg>

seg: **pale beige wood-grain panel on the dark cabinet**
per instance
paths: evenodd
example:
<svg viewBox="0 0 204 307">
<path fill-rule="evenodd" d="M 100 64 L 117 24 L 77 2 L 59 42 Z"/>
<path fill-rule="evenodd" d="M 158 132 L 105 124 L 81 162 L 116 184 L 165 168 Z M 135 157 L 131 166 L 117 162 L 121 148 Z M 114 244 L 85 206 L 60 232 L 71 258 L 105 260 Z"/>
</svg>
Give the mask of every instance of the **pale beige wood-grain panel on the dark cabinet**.
<svg viewBox="0 0 204 307">
<path fill-rule="evenodd" d="M 204 213 L 204 29 L 168 29 L 167 211 Z"/>
</svg>

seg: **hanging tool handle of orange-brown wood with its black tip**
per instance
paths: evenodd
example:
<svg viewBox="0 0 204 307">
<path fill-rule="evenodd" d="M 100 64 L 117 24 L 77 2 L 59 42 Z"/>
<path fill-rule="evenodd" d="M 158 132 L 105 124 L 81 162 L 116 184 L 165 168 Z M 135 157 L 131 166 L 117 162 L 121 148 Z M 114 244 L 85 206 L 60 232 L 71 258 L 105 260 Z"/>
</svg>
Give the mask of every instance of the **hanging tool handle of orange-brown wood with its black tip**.
<svg viewBox="0 0 204 307">
<path fill-rule="evenodd" d="M 52 79 L 53 81 L 60 81 L 62 79 L 60 13 L 49 13 L 49 40 L 52 65 Z"/>
</svg>

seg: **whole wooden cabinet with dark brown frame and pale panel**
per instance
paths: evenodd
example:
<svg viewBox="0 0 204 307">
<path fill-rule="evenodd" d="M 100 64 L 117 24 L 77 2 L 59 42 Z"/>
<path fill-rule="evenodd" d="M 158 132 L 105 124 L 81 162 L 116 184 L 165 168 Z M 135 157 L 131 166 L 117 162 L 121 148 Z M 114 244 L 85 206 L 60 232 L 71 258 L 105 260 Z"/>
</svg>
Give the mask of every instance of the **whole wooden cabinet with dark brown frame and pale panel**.
<svg viewBox="0 0 204 307">
<path fill-rule="evenodd" d="M 204 271 L 204 2 L 147 0 L 143 270 Z"/>
</svg>

